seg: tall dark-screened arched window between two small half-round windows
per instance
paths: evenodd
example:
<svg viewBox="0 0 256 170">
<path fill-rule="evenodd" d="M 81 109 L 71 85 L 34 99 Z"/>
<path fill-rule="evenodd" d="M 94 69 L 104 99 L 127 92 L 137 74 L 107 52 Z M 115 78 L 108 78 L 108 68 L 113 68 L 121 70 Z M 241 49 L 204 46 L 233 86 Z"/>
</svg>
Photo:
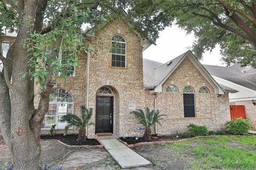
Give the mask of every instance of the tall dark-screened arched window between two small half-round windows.
<svg viewBox="0 0 256 170">
<path fill-rule="evenodd" d="M 183 89 L 184 117 L 195 117 L 195 95 L 194 90 L 187 86 Z"/>
</svg>

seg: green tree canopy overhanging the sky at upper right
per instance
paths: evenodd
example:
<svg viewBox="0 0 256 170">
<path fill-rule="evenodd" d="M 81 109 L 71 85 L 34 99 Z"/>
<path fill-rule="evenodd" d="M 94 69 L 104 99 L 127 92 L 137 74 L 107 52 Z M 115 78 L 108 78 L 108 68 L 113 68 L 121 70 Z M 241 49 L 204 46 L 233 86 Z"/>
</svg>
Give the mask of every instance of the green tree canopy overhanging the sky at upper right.
<svg viewBox="0 0 256 170">
<path fill-rule="evenodd" d="M 251 30 L 253 37 L 256 35 L 256 24 L 253 23 L 255 11 L 253 13 L 250 10 L 254 8 L 254 1 L 223 1 L 226 7 L 212 0 L 125 2 L 130 6 L 128 13 L 135 21 L 134 27 L 153 42 L 158 38 L 159 31 L 171 24 L 178 24 L 187 33 L 194 33 L 196 40 L 191 48 L 199 59 L 205 50 L 220 45 L 222 60 L 228 65 L 239 62 L 243 66 L 256 67 L 255 39 L 253 44 L 249 33 L 245 31 Z M 244 14 L 253 20 L 247 19 Z M 243 28 L 231 19 L 232 15 L 238 16 Z"/>
</svg>

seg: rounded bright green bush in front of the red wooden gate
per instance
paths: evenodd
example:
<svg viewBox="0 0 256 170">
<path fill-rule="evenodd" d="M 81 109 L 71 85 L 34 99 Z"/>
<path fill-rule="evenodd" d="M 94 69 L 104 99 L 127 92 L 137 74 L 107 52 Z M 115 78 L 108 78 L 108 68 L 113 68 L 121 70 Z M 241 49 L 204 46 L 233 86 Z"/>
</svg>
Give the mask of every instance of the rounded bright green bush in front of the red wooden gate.
<svg viewBox="0 0 256 170">
<path fill-rule="evenodd" d="M 227 130 L 232 134 L 246 134 L 250 128 L 250 121 L 247 119 L 236 118 L 234 121 L 227 122 Z"/>
</svg>

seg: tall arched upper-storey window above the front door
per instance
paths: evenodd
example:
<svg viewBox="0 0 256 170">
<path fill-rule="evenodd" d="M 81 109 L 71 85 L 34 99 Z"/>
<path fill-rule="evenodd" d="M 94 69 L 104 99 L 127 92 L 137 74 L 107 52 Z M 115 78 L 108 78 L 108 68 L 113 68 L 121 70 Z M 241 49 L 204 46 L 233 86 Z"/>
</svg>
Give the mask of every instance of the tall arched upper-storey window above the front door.
<svg viewBox="0 0 256 170">
<path fill-rule="evenodd" d="M 125 38 L 119 34 L 112 38 L 111 66 L 126 67 L 126 42 Z"/>
</svg>

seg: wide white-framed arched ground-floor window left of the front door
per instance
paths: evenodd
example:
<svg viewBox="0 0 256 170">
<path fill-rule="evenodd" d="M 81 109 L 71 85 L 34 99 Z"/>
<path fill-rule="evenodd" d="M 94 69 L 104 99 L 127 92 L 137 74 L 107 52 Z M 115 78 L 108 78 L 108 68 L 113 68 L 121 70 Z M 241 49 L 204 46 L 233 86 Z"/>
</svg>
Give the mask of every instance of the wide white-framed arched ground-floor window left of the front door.
<svg viewBox="0 0 256 170">
<path fill-rule="evenodd" d="M 45 114 L 42 129 L 50 129 L 53 124 L 57 124 L 55 129 L 64 129 L 66 122 L 61 121 L 61 117 L 66 114 L 73 114 L 73 97 L 62 88 L 54 88 L 50 94 L 49 111 Z"/>
</svg>

